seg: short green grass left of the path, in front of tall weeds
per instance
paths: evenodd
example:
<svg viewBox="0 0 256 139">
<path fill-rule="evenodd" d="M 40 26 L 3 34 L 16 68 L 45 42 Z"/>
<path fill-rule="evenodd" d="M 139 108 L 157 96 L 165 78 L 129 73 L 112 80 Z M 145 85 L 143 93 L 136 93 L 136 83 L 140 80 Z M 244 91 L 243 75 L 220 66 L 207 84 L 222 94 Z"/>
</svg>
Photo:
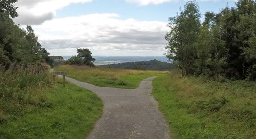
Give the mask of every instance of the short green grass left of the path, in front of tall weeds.
<svg viewBox="0 0 256 139">
<path fill-rule="evenodd" d="M 103 104 L 98 96 L 73 84 L 67 83 L 63 88 L 58 80 L 53 87 L 31 87 L 31 90 L 43 93 L 43 99 L 26 103 L 20 110 L 12 109 L 13 113 L 5 112 L 0 139 L 83 139 L 102 115 Z"/>
</svg>

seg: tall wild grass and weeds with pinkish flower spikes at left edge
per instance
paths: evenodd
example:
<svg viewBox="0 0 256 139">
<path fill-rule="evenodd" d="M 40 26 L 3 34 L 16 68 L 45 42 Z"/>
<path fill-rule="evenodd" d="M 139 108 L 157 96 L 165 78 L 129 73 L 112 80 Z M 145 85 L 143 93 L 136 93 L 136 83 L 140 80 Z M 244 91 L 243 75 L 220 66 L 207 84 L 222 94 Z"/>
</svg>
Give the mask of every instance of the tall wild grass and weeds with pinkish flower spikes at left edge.
<svg viewBox="0 0 256 139">
<path fill-rule="evenodd" d="M 49 73 L 39 66 L 0 67 L 0 123 L 33 111 L 47 99 Z"/>
</svg>

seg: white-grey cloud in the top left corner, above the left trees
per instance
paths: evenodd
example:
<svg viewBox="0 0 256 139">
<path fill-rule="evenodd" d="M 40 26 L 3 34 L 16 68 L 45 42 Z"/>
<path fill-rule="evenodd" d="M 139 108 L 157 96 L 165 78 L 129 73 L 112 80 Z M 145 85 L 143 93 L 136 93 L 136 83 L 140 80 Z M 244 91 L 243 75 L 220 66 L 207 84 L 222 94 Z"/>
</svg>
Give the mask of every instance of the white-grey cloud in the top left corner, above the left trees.
<svg viewBox="0 0 256 139">
<path fill-rule="evenodd" d="M 86 3 L 91 0 L 18 0 L 19 16 L 14 19 L 16 23 L 22 25 L 39 25 L 47 20 L 53 19 L 56 10 L 68 6 L 72 3 Z"/>
</svg>

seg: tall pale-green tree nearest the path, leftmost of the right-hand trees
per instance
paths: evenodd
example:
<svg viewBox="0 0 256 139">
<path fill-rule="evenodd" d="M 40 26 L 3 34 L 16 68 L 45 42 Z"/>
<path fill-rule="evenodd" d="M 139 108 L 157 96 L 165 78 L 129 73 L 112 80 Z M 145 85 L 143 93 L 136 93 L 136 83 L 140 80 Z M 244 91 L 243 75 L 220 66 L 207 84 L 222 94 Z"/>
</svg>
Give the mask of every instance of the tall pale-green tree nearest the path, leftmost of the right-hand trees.
<svg viewBox="0 0 256 139">
<path fill-rule="evenodd" d="M 198 4 L 191 0 L 176 17 L 169 18 L 170 32 L 166 34 L 166 57 L 173 59 L 182 76 L 194 72 L 196 59 L 196 40 L 200 30 L 200 11 Z"/>
</svg>

